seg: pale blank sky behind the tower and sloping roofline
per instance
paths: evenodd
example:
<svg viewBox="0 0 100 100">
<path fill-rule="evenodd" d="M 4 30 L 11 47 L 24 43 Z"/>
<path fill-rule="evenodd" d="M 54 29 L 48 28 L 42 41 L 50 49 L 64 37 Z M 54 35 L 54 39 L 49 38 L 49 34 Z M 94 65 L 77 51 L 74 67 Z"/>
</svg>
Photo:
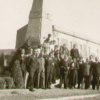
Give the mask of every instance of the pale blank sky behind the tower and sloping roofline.
<svg viewBox="0 0 100 100">
<path fill-rule="evenodd" d="M 44 0 L 52 23 L 66 32 L 100 41 L 100 0 Z M 0 0 L 0 49 L 15 48 L 17 30 L 26 25 L 33 0 Z"/>
</svg>

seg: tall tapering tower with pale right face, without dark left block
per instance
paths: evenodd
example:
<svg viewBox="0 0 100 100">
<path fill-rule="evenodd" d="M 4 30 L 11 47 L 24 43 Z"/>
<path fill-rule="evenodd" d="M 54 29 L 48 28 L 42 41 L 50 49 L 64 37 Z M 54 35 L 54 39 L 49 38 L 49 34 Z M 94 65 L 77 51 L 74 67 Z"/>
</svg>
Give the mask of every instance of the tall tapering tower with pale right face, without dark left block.
<svg viewBox="0 0 100 100">
<path fill-rule="evenodd" d="M 33 0 L 25 36 L 25 40 L 32 39 L 33 46 L 41 44 L 43 38 L 52 33 L 49 13 L 44 12 L 44 6 L 44 0 Z"/>
</svg>

